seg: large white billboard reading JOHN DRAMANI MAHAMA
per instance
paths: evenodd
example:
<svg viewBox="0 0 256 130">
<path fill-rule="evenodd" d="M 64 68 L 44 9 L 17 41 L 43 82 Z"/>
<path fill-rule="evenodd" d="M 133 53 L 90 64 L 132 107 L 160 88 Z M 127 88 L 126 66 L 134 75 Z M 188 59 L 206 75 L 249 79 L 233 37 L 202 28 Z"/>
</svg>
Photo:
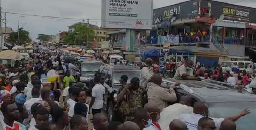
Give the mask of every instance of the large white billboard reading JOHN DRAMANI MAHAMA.
<svg viewBox="0 0 256 130">
<path fill-rule="evenodd" d="M 102 0 L 102 28 L 152 29 L 153 0 Z"/>
</svg>

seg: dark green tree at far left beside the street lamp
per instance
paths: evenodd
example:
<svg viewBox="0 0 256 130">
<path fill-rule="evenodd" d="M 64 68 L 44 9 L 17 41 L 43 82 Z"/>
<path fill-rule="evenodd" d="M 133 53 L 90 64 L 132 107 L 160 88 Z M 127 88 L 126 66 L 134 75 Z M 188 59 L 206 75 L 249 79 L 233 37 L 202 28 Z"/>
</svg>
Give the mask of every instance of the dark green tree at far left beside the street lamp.
<svg viewBox="0 0 256 130">
<path fill-rule="evenodd" d="M 19 28 L 20 30 L 20 40 L 18 40 L 18 30 L 15 32 L 10 33 L 10 36 L 8 37 L 8 42 L 17 43 L 18 45 L 25 44 L 26 42 L 31 42 L 31 39 L 29 38 L 29 32 L 26 30 L 23 30 L 23 28 Z"/>
</svg>

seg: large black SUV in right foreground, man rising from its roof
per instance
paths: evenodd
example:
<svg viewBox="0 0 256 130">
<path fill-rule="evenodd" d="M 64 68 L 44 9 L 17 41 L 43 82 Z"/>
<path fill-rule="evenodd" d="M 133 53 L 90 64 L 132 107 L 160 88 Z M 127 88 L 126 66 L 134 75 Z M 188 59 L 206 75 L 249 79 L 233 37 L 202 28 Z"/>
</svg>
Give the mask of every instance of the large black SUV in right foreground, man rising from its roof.
<svg viewBox="0 0 256 130">
<path fill-rule="evenodd" d="M 209 117 L 223 118 L 234 116 L 248 108 L 250 114 L 236 121 L 237 130 L 255 130 L 256 95 L 234 89 L 234 85 L 214 80 L 163 80 L 163 86 L 180 82 L 175 91 L 177 101 L 186 95 L 192 100 L 205 102 L 209 107 Z"/>
</svg>

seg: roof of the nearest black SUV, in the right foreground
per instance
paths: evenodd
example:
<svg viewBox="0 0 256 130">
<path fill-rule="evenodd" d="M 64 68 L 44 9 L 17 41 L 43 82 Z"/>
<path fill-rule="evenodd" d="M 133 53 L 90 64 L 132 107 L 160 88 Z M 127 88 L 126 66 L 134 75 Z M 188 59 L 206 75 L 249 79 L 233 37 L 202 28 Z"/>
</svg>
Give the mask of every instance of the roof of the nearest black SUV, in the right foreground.
<svg viewBox="0 0 256 130">
<path fill-rule="evenodd" d="M 163 80 L 166 81 L 166 80 Z M 195 97 L 199 97 L 206 103 L 212 102 L 256 102 L 256 95 L 241 93 L 228 83 L 215 82 L 213 80 L 167 80 L 180 82 L 180 88 Z M 210 81 L 210 82 L 208 82 Z M 227 86 L 230 85 L 230 86 Z"/>
</svg>

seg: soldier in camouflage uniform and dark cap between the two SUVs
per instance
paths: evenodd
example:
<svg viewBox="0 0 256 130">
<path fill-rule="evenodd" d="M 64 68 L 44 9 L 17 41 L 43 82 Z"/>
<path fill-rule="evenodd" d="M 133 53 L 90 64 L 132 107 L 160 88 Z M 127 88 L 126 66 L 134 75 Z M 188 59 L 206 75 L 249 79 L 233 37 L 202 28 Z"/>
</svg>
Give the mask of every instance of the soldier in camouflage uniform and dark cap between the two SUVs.
<svg viewBox="0 0 256 130">
<path fill-rule="evenodd" d="M 133 121 L 133 113 L 137 108 L 143 108 L 142 98 L 143 90 L 140 89 L 140 79 L 133 77 L 131 83 L 126 84 L 124 89 L 118 94 L 117 102 L 120 105 L 120 111 L 125 116 L 125 121 Z"/>
</svg>

